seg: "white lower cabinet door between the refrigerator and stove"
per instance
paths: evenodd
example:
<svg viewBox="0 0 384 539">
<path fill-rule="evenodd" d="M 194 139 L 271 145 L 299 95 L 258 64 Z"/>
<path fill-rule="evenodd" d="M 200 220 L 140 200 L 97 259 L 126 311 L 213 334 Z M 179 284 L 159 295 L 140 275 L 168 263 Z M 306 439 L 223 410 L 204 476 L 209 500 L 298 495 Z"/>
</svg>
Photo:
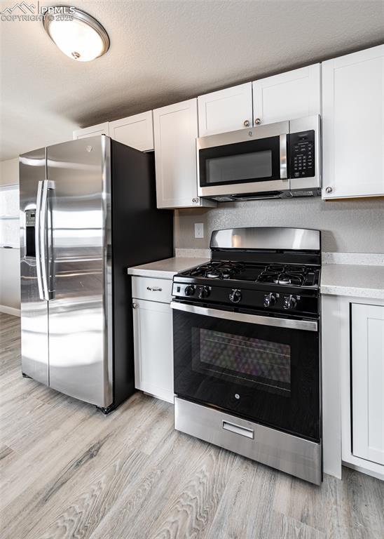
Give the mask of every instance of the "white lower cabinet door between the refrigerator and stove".
<svg viewBox="0 0 384 539">
<path fill-rule="evenodd" d="M 173 403 L 172 309 L 168 303 L 133 300 L 135 386 Z"/>
</svg>

